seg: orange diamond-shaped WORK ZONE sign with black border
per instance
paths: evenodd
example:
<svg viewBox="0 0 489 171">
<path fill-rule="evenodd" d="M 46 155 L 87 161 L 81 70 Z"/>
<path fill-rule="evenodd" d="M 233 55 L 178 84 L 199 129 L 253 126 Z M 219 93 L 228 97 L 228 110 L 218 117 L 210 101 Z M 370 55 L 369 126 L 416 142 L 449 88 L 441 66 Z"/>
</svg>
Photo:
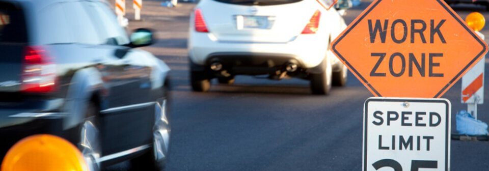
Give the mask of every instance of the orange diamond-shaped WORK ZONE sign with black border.
<svg viewBox="0 0 489 171">
<path fill-rule="evenodd" d="M 376 0 L 332 49 L 375 96 L 439 98 L 487 45 L 443 0 Z"/>
</svg>

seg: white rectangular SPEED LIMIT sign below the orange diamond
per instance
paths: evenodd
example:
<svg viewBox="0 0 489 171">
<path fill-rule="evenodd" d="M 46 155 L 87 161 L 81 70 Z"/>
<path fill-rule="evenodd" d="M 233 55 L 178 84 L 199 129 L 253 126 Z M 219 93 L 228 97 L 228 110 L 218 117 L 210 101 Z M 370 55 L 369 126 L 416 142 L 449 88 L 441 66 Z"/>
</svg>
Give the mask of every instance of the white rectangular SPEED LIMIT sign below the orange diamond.
<svg viewBox="0 0 489 171">
<path fill-rule="evenodd" d="M 450 107 L 446 99 L 368 99 L 363 170 L 449 170 Z"/>
</svg>

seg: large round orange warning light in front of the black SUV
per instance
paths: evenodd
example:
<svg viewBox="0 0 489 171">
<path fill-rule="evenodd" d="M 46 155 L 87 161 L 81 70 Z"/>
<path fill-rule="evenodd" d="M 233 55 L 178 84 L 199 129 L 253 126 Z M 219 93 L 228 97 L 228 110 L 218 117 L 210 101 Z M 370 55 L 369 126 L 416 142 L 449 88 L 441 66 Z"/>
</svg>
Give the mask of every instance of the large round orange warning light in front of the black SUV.
<svg viewBox="0 0 489 171">
<path fill-rule="evenodd" d="M 53 135 L 33 135 L 17 142 L 2 162 L 2 171 L 86 171 L 82 153 L 67 140 Z"/>
</svg>

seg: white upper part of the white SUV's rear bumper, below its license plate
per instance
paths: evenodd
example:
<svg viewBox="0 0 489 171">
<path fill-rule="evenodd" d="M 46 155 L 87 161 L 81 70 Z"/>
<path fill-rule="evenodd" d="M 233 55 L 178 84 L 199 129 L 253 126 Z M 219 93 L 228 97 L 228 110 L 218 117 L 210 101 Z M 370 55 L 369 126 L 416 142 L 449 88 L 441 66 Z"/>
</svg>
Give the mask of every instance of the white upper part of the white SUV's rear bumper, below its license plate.
<svg viewBox="0 0 489 171">
<path fill-rule="evenodd" d="M 318 35 L 300 35 L 287 43 L 222 42 L 211 33 L 191 32 L 188 42 L 189 58 L 197 65 L 206 65 L 214 53 L 257 53 L 294 56 L 304 68 L 316 67 L 328 51 L 328 38 Z M 336 58 L 335 58 L 336 59 Z"/>
</svg>

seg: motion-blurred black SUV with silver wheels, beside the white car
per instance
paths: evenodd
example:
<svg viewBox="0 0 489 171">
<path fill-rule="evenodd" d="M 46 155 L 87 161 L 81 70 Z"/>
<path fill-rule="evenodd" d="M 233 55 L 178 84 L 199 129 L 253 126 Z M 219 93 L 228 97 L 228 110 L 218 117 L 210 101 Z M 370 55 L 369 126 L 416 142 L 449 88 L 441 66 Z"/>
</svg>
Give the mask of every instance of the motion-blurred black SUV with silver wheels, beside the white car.
<svg viewBox="0 0 489 171">
<path fill-rule="evenodd" d="M 170 69 L 137 49 L 153 41 L 147 29 L 127 37 L 105 1 L 0 0 L 0 158 L 53 134 L 95 170 L 164 167 Z"/>
</svg>

